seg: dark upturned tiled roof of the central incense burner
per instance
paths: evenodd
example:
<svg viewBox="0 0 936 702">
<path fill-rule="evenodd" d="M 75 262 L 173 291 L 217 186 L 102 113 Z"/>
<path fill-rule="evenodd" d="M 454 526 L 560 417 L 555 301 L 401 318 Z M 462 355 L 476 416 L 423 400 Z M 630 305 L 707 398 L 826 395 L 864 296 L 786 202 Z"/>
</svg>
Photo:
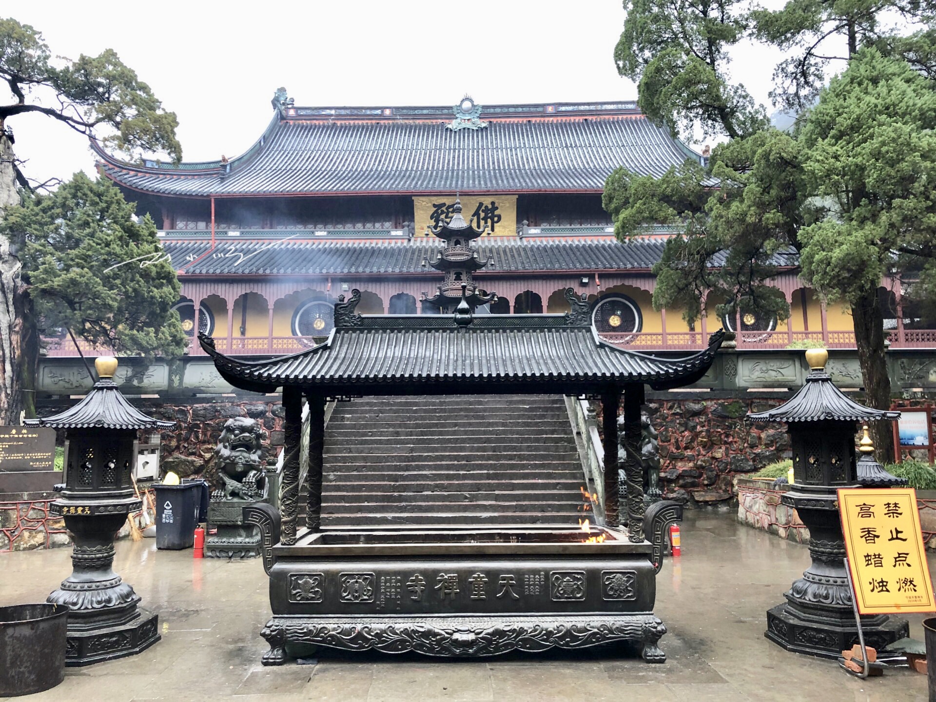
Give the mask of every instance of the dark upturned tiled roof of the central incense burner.
<svg viewBox="0 0 936 702">
<path fill-rule="evenodd" d="M 465 324 L 461 322 L 461 324 Z M 628 351 L 599 339 L 567 314 L 486 314 L 461 326 L 452 315 L 358 315 L 323 344 L 269 360 L 219 353 L 199 336 L 218 372 L 235 388 L 300 386 L 332 395 L 446 394 L 505 391 L 586 392 L 646 383 L 655 389 L 694 383 L 711 366 L 724 332 L 684 358 Z"/>
</svg>

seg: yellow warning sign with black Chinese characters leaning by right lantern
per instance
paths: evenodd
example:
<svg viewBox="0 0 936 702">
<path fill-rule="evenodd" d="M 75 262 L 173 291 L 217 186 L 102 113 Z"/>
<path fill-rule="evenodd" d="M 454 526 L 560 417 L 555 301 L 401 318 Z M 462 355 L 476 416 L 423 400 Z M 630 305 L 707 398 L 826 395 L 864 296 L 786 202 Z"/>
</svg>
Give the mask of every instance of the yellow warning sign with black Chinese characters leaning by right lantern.
<svg viewBox="0 0 936 702">
<path fill-rule="evenodd" d="M 858 611 L 936 611 L 916 490 L 840 489 L 839 514 Z"/>
</svg>

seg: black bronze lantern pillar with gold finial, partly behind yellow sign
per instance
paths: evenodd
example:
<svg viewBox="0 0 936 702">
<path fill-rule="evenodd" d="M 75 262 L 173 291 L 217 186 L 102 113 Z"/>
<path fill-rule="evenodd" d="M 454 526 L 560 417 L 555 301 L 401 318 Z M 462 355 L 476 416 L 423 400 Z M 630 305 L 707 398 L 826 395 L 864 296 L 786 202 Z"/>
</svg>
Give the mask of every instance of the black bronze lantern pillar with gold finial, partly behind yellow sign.
<svg viewBox="0 0 936 702">
<path fill-rule="evenodd" d="M 810 349 L 806 384 L 781 406 L 749 414 L 753 422 L 783 421 L 793 447 L 793 485 L 782 504 L 794 507 L 810 530 L 812 563 L 784 594 L 786 602 L 768 610 L 771 641 L 787 651 L 838 658 L 858 642 L 852 590 L 845 571 L 845 541 L 837 490 L 860 489 L 856 474 L 856 422 L 899 417 L 853 402 L 826 373 L 828 352 Z M 908 636 L 905 620 L 862 616 L 865 641 L 878 650 Z"/>
</svg>

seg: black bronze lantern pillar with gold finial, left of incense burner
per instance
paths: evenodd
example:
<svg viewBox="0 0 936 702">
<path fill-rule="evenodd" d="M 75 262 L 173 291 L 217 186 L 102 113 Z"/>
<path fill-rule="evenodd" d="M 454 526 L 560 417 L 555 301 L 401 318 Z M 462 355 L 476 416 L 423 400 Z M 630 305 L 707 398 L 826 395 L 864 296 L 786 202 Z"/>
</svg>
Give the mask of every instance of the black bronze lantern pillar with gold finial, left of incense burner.
<svg viewBox="0 0 936 702">
<path fill-rule="evenodd" d="M 64 430 L 66 482 L 51 513 L 72 535 L 72 573 L 48 602 L 66 605 L 66 665 L 90 665 L 144 651 L 159 640 L 157 615 L 113 571 L 114 536 L 141 502 L 133 489 L 134 441 L 140 429 L 174 426 L 147 417 L 126 401 L 113 375 L 117 359 L 95 360 L 98 381 L 81 402 L 58 415 L 27 419 Z"/>
</svg>

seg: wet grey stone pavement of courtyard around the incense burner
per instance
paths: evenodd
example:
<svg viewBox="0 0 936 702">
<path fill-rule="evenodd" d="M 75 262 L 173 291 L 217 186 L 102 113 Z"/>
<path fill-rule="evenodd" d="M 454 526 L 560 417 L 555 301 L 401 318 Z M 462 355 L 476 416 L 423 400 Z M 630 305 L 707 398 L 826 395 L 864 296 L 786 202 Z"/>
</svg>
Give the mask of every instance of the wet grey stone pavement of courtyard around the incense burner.
<svg viewBox="0 0 936 702">
<path fill-rule="evenodd" d="M 657 579 L 669 632 L 664 665 L 616 649 L 446 661 L 415 655 L 320 653 L 309 665 L 265 668 L 258 635 L 269 614 L 259 562 L 195 560 L 153 539 L 117 545 L 114 565 L 159 613 L 162 641 L 138 656 L 68 668 L 29 700 L 904 700 L 926 699 L 907 669 L 857 680 L 832 661 L 782 651 L 764 637 L 766 610 L 809 563 L 804 546 L 689 513 L 682 555 Z M 41 602 L 69 572 L 70 549 L 0 554 L 0 606 Z M 911 636 L 923 638 L 922 616 Z"/>
</svg>

